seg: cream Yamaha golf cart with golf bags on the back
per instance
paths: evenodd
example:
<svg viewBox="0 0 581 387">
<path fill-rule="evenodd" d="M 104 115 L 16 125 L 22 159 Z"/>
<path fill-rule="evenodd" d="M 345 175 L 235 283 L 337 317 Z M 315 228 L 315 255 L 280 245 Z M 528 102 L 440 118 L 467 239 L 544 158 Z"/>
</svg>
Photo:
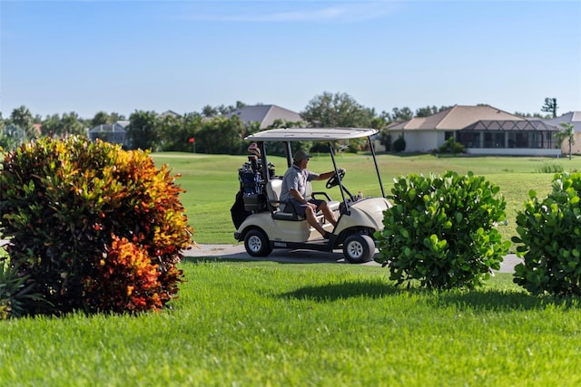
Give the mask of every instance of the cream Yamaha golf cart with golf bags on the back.
<svg viewBox="0 0 581 387">
<path fill-rule="evenodd" d="M 371 136 L 378 131 L 356 128 L 291 128 L 260 131 L 246 137 L 251 141 L 248 162 L 239 169 L 240 190 L 231 208 L 234 226 L 237 228 L 234 238 L 244 241 L 244 247 L 251 256 L 268 256 L 273 248 L 308 249 L 332 251 L 342 248 L 343 255 L 350 263 L 368 262 L 375 253 L 373 233 L 383 229 L 383 212 L 391 208 L 385 198 L 383 184 Z M 353 194 L 343 184 L 345 169 L 337 166 L 334 147 L 341 140 L 366 138 L 373 156 L 379 187 L 380 198 L 362 197 Z M 320 233 L 307 223 L 305 218 L 293 212 L 285 212 L 281 201 L 282 177 L 276 176 L 274 165 L 267 160 L 267 143 L 273 149 L 278 145 L 284 147 L 287 168 L 291 167 L 291 143 L 296 141 L 327 142 L 330 159 L 335 169 L 325 187 L 332 189 L 339 186 L 340 200 L 331 199 L 327 192 L 312 192 L 307 188 L 309 198 L 322 198 L 328 202 L 337 226 L 333 227 L 322 214 L 317 214 L 321 226 L 333 234 L 323 239 Z M 286 168 L 284 169 L 286 171 Z"/>
</svg>

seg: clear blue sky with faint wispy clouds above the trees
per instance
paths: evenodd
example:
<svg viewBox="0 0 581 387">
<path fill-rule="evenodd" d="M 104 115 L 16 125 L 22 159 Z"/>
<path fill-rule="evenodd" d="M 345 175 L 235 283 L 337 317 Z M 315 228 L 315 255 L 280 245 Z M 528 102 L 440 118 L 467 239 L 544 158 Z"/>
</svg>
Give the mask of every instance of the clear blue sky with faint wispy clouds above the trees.
<svg viewBox="0 0 581 387">
<path fill-rule="evenodd" d="M 581 2 L 0 1 L 0 111 L 581 111 Z"/>
</svg>

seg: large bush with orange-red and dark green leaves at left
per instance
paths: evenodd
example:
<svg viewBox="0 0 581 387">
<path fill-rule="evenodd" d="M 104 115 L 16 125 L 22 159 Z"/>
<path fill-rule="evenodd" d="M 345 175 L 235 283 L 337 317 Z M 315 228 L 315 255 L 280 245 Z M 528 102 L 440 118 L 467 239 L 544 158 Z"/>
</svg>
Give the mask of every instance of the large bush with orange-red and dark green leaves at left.
<svg viewBox="0 0 581 387">
<path fill-rule="evenodd" d="M 1 167 L 9 262 L 54 305 L 49 313 L 159 310 L 175 297 L 192 229 L 167 166 L 71 137 L 27 143 Z"/>
</svg>

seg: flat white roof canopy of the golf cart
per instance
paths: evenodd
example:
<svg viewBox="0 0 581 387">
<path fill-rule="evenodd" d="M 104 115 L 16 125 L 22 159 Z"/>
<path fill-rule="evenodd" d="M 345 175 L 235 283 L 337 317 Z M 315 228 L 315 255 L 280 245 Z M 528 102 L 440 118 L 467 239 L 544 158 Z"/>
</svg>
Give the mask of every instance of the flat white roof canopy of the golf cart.
<svg viewBox="0 0 581 387">
<path fill-rule="evenodd" d="M 376 129 L 363 128 L 281 128 L 259 131 L 244 138 L 251 141 L 333 141 L 369 137 Z"/>
</svg>

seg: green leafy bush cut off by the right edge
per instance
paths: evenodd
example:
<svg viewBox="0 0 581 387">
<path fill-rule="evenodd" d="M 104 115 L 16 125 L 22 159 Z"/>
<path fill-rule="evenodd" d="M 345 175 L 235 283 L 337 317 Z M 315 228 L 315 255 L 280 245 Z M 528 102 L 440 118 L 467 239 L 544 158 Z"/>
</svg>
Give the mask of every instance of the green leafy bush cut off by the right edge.
<svg viewBox="0 0 581 387">
<path fill-rule="evenodd" d="M 558 173 L 547 198 L 530 191 L 517 212 L 514 282 L 535 295 L 581 295 L 581 173 Z"/>
</svg>

